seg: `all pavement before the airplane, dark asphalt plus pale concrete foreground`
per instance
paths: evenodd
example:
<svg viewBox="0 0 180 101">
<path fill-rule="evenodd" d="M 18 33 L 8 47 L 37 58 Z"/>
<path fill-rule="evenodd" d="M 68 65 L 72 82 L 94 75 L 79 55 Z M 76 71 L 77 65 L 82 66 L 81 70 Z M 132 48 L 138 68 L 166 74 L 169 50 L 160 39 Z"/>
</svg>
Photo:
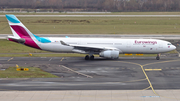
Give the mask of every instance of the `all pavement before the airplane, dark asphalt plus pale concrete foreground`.
<svg viewBox="0 0 180 101">
<path fill-rule="evenodd" d="M 0 69 L 31 66 L 59 78 L 1 78 L 2 101 L 179 101 L 178 57 L 1 57 Z"/>
</svg>

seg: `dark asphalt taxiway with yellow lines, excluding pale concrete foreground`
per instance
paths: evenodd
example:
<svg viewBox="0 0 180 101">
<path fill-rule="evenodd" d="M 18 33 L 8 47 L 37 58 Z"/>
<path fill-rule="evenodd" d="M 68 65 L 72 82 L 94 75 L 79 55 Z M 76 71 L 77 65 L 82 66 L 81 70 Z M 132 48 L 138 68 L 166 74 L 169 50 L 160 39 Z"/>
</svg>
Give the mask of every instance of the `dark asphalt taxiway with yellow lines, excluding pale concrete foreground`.
<svg viewBox="0 0 180 101">
<path fill-rule="evenodd" d="M 59 78 L 1 78 L 0 90 L 160 90 L 180 89 L 178 57 L 1 57 L 0 69 L 18 64 L 38 67 Z"/>
</svg>

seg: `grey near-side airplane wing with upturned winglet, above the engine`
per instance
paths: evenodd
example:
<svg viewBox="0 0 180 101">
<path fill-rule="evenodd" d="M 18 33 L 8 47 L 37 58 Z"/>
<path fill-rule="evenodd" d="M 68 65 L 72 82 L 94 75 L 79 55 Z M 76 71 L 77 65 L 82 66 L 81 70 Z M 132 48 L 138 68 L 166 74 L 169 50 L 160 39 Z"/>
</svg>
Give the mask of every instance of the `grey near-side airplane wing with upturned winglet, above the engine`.
<svg viewBox="0 0 180 101">
<path fill-rule="evenodd" d="M 117 48 L 113 48 L 113 47 L 102 47 L 102 46 L 87 46 L 87 45 L 70 45 L 67 44 L 63 41 L 60 41 L 62 45 L 66 45 L 66 46 L 71 46 L 74 47 L 74 49 L 72 50 L 73 52 L 77 52 L 77 53 L 90 53 L 93 52 L 94 54 L 99 54 L 101 51 L 104 50 L 119 50 Z"/>
</svg>

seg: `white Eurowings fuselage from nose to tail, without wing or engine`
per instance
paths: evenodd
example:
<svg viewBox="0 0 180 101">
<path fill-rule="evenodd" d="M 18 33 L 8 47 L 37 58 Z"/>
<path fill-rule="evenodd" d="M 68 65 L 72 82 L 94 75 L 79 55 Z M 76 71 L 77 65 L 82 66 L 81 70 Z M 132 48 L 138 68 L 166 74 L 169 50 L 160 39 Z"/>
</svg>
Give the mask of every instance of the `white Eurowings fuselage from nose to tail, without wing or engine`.
<svg viewBox="0 0 180 101">
<path fill-rule="evenodd" d="M 157 39 L 120 39 L 120 38 L 48 38 L 51 43 L 37 44 L 42 50 L 53 52 L 73 52 L 71 46 L 65 46 L 60 41 L 70 45 L 97 46 L 104 48 L 117 48 L 120 53 L 156 54 L 176 49 L 168 41 Z M 95 53 L 98 54 L 98 53 Z"/>
</svg>

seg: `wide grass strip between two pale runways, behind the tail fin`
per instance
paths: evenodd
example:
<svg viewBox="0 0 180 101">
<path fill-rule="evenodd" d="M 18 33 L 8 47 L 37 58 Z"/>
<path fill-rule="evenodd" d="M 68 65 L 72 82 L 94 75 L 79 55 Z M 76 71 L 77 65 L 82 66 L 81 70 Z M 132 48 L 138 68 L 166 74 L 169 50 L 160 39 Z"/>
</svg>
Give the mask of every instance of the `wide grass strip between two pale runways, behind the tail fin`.
<svg viewBox="0 0 180 101">
<path fill-rule="evenodd" d="M 34 34 L 179 34 L 179 17 L 18 17 Z M 0 34 L 12 33 L 0 17 Z"/>
</svg>

